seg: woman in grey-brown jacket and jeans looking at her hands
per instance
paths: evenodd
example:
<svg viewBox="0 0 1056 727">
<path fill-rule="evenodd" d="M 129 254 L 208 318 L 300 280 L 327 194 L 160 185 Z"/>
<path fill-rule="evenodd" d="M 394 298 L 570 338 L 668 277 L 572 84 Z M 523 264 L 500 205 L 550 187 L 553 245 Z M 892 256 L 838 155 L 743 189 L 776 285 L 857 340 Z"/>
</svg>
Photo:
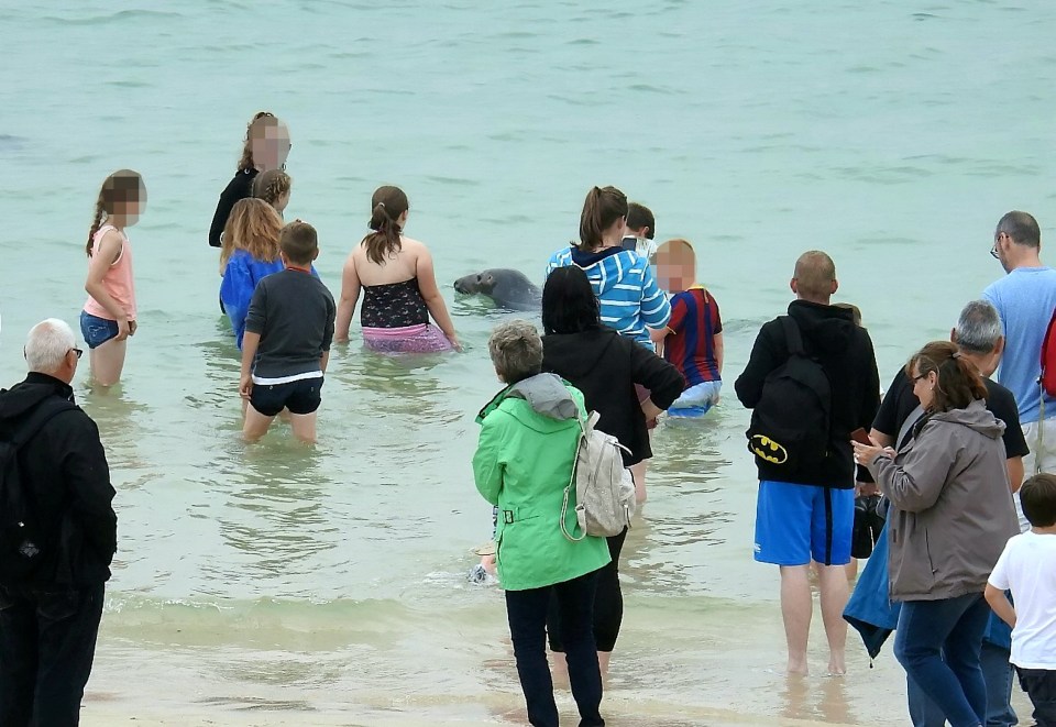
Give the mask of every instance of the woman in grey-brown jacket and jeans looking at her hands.
<svg viewBox="0 0 1056 727">
<path fill-rule="evenodd" d="M 987 388 L 953 343 L 925 345 L 906 375 L 925 411 L 913 439 L 898 452 L 856 442 L 855 458 L 891 500 L 890 593 L 902 602 L 894 656 L 953 727 L 974 727 L 987 708 L 982 593 L 1019 532 L 1004 422 L 986 409 Z"/>
</svg>

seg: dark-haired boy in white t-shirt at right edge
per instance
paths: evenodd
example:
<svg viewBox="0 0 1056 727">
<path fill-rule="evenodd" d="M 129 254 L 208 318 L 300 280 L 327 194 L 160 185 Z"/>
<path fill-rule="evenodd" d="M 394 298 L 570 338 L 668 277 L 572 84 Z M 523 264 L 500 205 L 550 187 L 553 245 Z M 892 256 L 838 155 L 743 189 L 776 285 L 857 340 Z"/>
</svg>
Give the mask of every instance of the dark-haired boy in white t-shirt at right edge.
<svg viewBox="0 0 1056 727">
<path fill-rule="evenodd" d="M 1020 488 L 1031 529 L 1015 536 L 993 566 L 987 602 L 1012 627 L 1010 661 L 1034 703 L 1041 727 L 1056 727 L 1056 475 L 1038 474 Z M 1015 607 L 1004 592 L 1012 592 Z"/>
</svg>

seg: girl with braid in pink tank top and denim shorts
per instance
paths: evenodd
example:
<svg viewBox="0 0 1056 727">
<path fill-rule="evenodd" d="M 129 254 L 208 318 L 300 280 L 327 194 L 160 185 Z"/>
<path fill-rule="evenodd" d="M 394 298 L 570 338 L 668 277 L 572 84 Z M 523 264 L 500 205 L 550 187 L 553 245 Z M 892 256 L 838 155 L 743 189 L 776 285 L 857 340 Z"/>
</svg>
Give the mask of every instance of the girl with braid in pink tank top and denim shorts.
<svg viewBox="0 0 1056 727">
<path fill-rule="evenodd" d="M 135 285 L 132 243 L 125 228 L 139 222 L 146 207 L 143 178 L 131 169 L 114 172 L 102 183 L 88 232 L 88 300 L 80 331 L 88 343 L 95 382 L 112 386 L 121 379 L 127 341 L 135 333 Z"/>
</svg>

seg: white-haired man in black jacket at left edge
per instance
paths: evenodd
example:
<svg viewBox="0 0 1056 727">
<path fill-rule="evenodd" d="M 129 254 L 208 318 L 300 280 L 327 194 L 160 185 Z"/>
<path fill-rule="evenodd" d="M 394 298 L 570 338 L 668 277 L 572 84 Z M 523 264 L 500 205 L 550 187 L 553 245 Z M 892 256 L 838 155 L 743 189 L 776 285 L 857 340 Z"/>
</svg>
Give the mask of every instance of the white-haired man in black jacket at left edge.
<svg viewBox="0 0 1056 727">
<path fill-rule="evenodd" d="M 0 392 L 0 725 L 76 725 L 117 550 L 107 458 L 69 383 L 65 322 L 30 331 Z"/>
</svg>

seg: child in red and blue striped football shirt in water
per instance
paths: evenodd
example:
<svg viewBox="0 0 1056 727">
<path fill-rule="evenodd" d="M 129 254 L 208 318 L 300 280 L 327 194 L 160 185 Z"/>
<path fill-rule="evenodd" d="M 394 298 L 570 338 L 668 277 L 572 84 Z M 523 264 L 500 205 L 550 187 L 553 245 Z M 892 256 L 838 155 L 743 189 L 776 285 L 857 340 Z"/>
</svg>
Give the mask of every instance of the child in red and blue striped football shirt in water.
<svg viewBox="0 0 1056 727">
<path fill-rule="evenodd" d="M 723 388 L 723 319 L 718 302 L 696 283 L 696 255 L 685 240 L 669 240 L 657 250 L 657 279 L 671 298 L 671 319 L 653 331 L 663 357 L 685 377 L 668 415 L 702 417 L 718 404 Z"/>
</svg>

